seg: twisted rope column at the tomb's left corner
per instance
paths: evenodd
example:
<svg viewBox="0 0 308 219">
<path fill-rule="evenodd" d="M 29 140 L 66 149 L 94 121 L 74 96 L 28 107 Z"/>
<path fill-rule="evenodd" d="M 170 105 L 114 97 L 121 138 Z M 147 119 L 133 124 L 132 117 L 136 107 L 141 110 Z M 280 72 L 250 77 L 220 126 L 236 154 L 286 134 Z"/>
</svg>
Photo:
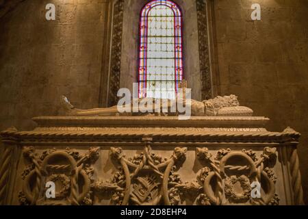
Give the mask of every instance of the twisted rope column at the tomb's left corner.
<svg viewBox="0 0 308 219">
<path fill-rule="evenodd" d="M 8 188 L 8 179 L 10 173 L 10 162 L 12 157 L 12 147 L 8 146 L 2 155 L 0 163 L 0 204 L 4 204 L 6 190 Z"/>
</svg>

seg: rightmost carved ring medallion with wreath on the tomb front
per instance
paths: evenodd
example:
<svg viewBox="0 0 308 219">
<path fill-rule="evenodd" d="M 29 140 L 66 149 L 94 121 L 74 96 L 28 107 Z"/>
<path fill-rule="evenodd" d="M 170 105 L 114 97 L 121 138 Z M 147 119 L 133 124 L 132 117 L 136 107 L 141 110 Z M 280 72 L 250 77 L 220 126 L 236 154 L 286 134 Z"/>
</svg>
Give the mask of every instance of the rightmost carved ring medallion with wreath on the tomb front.
<svg viewBox="0 0 308 219">
<path fill-rule="evenodd" d="M 214 157 L 207 148 L 197 148 L 197 156 L 208 163 L 198 178 L 203 183 L 203 194 L 213 205 L 278 204 L 276 182 L 272 166 L 276 163 L 276 149 L 266 147 L 257 157 L 252 150 L 231 151 L 221 149 Z M 251 183 L 266 183 L 259 198 L 251 197 Z M 214 189 L 213 189 L 214 188 Z"/>
</svg>

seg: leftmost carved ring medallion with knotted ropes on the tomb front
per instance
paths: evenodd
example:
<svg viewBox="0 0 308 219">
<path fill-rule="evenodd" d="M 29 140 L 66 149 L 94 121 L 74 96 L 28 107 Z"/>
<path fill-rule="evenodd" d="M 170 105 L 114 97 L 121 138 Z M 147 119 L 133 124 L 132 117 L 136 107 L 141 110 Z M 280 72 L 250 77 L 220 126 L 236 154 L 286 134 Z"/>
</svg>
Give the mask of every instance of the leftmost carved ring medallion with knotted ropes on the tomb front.
<svg viewBox="0 0 308 219">
<path fill-rule="evenodd" d="M 90 148 L 85 155 L 79 155 L 67 148 L 50 149 L 38 155 L 33 146 L 25 146 L 23 156 L 29 163 L 21 176 L 21 205 L 91 205 L 92 164 L 99 158 L 98 152 L 99 148 Z M 44 185 L 48 181 L 57 184 L 55 198 L 45 196 Z"/>
</svg>

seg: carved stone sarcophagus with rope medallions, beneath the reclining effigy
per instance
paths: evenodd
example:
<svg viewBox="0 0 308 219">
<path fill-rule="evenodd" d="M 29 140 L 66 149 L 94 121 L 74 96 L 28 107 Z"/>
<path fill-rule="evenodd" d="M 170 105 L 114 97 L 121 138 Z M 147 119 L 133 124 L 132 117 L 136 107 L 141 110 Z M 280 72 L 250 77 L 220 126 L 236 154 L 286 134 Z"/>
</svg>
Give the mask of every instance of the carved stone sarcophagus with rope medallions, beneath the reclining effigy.
<svg viewBox="0 0 308 219">
<path fill-rule="evenodd" d="M 1 204 L 303 203 L 296 153 L 300 134 L 290 128 L 267 131 L 268 118 L 55 116 L 34 121 L 33 131 L 1 133 Z"/>
</svg>

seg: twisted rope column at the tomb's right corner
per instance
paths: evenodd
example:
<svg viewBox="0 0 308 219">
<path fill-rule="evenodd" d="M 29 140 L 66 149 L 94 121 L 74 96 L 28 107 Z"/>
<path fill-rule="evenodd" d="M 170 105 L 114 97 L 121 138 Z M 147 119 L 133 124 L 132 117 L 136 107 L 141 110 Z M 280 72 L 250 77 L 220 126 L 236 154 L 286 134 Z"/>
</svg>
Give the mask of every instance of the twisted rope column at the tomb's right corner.
<svg viewBox="0 0 308 219">
<path fill-rule="evenodd" d="M 301 183 L 301 175 L 299 170 L 299 161 L 297 149 L 292 151 L 290 157 L 290 172 L 292 175 L 292 188 L 294 192 L 294 203 L 296 205 L 304 205 L 303 201 L 303 188 Z"/>
</svg>

